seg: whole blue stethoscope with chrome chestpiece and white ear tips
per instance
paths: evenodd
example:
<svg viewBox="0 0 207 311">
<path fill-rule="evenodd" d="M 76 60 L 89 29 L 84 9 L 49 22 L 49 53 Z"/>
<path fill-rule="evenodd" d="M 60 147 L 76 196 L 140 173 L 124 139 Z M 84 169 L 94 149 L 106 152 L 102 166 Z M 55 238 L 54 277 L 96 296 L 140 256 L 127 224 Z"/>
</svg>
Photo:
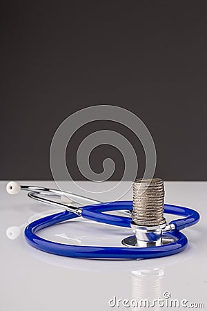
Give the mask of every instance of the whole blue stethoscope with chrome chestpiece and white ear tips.
<svg viewBox="0 0 207 311">
<path fill-rule="evenodd" d="M 52 214 L 26 226 L 24 231 L 26 241 L 32 247 L 35 247 L 43 252 L 56 254 L 60 256 L 69 256 L 77 258 L 105 258 L 105 259 L 146 259 L 169 256 L 183 251 L 188 239 L 180 230 L 195 225 L 199 221 L 199 214 L 193 209 L 187 207 L 179 207 L 177 205 L 164 205 L 164 213 L 176 216 L 183 216 L 177 220 L 172 220 L 164 229 L 161 230 L 161 245 L 139 247 L 135 243 L 134 246 L 128 247 L 106 247 L 106 246 L 85 246 L 85 245 L 69 245 L 63 243 L 55 243 L 41 238 L 37 235 L 41 229 L 62 223 L 66 220 L 83 217 L 88 220 L 93 220 L 98 223 L 115 225 L 119 227 L 132 227 L 132 201 L 116 201 L 116 202 L 99 202 L 91 198 L 71 194 L 58 189 L 48 189 L 44 187 L 22 186 L 18 182 L 9 182 L 6 186 L 9 194 L 17 194 L 20 190 L 28 191 L 28 196 L 34 200 L 39 200 L 48 203 L 54 207 L 64 209 L 56 214 Z M 47 196 L 47 198 L 43 198 Z M 48 197 L 69 198 L 72 202 L 80 202 L 83 207 L 74 207 L 66 205 L 63 202 L 50 200 Z M 106 214 L 108 211 L 121 211 L 123 216 L 114 214 Z M 143 228 L 142 228 L 143 229 Z M 157 234 L 157 228 L 144 228 L 145 236 L 153 238 Z M 155 230 L 156 229 L 156 230 Z M 159 230 L 160 231 L 160 230 Z M 128 238 L 128 241 L 134 241 L 135 236 Z M 123 241 L 122 241 L 123 243 Z M 126 245 L 126 243 L 123 243 Z"/>
</svg>

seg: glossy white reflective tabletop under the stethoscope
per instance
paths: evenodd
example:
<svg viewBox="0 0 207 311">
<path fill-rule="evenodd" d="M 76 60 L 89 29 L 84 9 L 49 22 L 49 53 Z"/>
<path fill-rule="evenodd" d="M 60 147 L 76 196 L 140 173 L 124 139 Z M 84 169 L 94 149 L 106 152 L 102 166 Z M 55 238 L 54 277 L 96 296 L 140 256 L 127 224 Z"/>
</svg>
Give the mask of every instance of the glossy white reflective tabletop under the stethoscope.
<svg viewBox="0 0 207 311">
<path fill-rule="evenodd" d="M 21 183 L 55 188 L 55 182 Z M 72 184 L 63 182 L 63 189 L 72 191 Z M 184 230 L 190 241 L 188 248 L 174 256 L 145 261 L 101 261 L 65 258 L 30 247 L 23 237 L 28 221 L 58 210 L 31 200 L 25 191 L 10 196 L 6 182 L 1 182 L 0 310 L 142 310 L 122 303 L 124 299 L 162 299 L 164 292 L 170 292 L 171 299 L 205 303 L 205 308 L 197 310 L 207 310 L 207 182 L 166 182 L 165 189 L 166 203 L 192 207 L 201 214 L 195 227 Z M 132 192 L 124 199 L 131 196 Z M 99 194 L 95 198 L 113 200 Z M 166 218 L 170 221 L 175 217 Z M 40 232 L 52 241 L 75 245 L 121 245 L 122 238 L 131 234 L 131 229 L 88 220 L 72 220 Z M 116 303 L 113 308 L 108 304 L 110 299 L 111 305 Z M 119 308 L 116 299 L 121 299 Z M 174 309 L 155 305 L 143 310 Z"/>
</svg>

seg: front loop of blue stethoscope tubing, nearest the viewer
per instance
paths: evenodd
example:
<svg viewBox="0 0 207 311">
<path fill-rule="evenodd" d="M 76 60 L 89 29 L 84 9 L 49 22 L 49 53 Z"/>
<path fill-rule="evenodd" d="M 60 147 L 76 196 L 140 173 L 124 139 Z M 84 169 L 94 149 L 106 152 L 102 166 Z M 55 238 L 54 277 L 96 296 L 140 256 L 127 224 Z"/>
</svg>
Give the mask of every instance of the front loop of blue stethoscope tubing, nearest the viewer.
<svg viewBox="0 0 207 311">
<path fill-rule="evenodd" d="M 168 245 L 157 247 L 96 247 L 96 246 L 78 246 L 55 243 L 48 241 L 37 232 L 43 228 L 55 225 L 55 223 L 77 217 L 69 211 L 63 211 L 55 215 L 47 216 L 30 223 L 25 229 L 26 240 L 33 247 L 43 252 L 56 254 L 60 256 L 70 256 L 78 258 L 111 258 L 111 259 L 138 259 L 138 258 L 157 258 L 177 254 L 186 248 L 188 243 L 186 236 L 179 231 L 175 231 L 168 236 L 176 237 L 177 241 Z"/>
</svg>

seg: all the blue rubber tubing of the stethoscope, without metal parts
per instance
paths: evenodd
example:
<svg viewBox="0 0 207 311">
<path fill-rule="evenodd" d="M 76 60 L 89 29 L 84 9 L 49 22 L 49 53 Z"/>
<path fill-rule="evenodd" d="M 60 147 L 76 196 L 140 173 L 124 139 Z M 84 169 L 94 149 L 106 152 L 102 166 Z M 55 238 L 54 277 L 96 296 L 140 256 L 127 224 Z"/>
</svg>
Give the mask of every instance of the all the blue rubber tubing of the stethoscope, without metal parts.
<svg viewBox="0 0 207 311">
<path fill-rule="evenodd" d="M 130 227 L 132 218 L 105 214 L 106 211 L 132 210 L 132 201 L 117 201 L 99 203 L 83 207 L 81 216 L 88 220 L 99 223 L 115 225 L 119 227 Z M 172 220 L 170 224 L 175 226 L 172 232 L 166 233 L 167 236 L 175 238 L 175 242 L 156 247 L 105 247 L 105 246 L 80 246 L 68 245 L 48 241 L 37 235 L 41 229 L 50 227 L 57 223 L 79 217 L 70 211 L 62 211 L 57 214 L 46 216 L 30 223 L 25 229 L 26 240 L 32 247 L 43 252 L 60 256 L 77 258 L 108 258 L 108 259 L 148 259 L 158 258 L 177 254 L 183 251 L 188 239 L 179 230 L 195 225 L 199 221 L 199 214 L 193 209 L 179 207 L 177 205 L 164 205 L 166 214 L 184 216 L 185 218 Z"/>
</svg>

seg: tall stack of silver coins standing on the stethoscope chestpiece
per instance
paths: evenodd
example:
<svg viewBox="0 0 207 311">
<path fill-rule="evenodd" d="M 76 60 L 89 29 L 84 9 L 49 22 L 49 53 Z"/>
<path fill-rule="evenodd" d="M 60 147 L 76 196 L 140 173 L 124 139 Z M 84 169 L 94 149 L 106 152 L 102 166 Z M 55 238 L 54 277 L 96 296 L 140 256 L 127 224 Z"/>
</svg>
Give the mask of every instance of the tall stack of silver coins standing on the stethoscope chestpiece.
<svg viewBox="0 0 207 311">
<path fill-rule="evenodd" d="M 166 223 L 164 194 L 164 182 L 159 178 L 133 182 L 132 220 L 135 225 L 148 227 Z"/>
</svg>

